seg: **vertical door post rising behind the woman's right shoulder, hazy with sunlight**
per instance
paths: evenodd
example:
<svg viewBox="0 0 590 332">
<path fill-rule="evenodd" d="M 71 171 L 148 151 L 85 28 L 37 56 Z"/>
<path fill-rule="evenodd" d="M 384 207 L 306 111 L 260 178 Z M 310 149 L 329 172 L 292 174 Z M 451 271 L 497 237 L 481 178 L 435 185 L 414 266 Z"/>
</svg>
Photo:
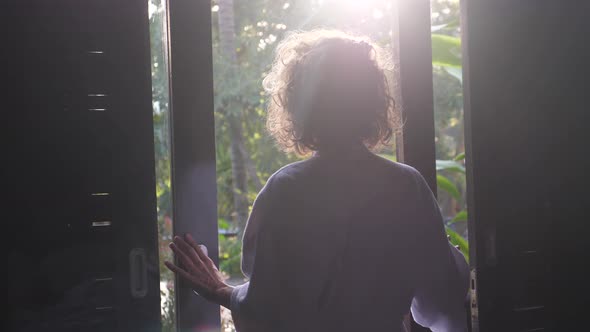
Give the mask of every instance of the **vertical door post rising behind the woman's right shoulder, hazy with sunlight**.
<svg viewBox="0 0 590 332">
<path fill-rule="evenodd" d="M 397 102 L 404 120 L 397 157 L 416 168 L 436 195 L 430 0 L 400 0 L 395 24 Z M 429 329 L 412 321 L 411 331 Z"/>
</svg>

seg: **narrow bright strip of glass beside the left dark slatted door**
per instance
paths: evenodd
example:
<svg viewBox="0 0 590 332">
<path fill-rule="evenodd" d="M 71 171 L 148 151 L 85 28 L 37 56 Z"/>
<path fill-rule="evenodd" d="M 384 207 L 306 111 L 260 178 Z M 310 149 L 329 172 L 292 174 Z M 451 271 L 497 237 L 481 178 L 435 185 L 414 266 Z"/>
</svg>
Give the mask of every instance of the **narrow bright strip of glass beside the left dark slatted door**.
<svg viewBox="0 0 590 332">
<path fill-rule="evenodd" d="M 168 243 L 172 240 L 172 194 L 170 191 L 170 127 L 168 96 L 166 1 L 149 0 L 152 60 L 152 103 L 156 193 L 158 198 L 158 247 L 160 258 L 160 296 L 162 331 L 175 331 L 174 275 L 164 266 L 172 261 Z"/>
</svg>

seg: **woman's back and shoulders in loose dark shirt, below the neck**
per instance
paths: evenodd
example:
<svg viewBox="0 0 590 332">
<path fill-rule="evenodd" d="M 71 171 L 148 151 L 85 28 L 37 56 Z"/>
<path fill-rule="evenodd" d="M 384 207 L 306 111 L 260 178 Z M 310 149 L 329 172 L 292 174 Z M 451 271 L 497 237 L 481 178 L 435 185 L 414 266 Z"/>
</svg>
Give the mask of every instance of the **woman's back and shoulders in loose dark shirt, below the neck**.
<svg viewBox="0 0 590 332">
<path fill-rule="evenodd" d="M 424 247 L 449 252 L 424 185 L 414 169 L 360 145 L 282 168 L 246 228 L 244 272 L 253 282 L 256 273 L 274 279 L 268 287 L 263 277 L 259 292 L 272 294 L 254 296 L 262 300 L 249 305 L 259 311 L 273 303 L 264 315 L 274 331 L 400 327 L 427 273 L 422 266 L 438 259 L 425 256 L 433 250 Z"/>
</svg>

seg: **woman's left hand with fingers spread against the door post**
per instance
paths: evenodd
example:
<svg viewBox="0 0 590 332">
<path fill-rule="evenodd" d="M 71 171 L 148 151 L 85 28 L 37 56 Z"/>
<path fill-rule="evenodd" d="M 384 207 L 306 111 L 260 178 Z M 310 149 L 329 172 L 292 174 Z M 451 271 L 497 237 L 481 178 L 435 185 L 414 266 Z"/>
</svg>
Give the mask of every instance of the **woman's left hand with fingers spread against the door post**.
<svg viewBox="0 0 590 332">
<path fill-rule="evenodd" d="M 181 276 L 199 295 L 205 299 L 229 308 L 233 287 L 227 285 L 215 263 L 207 256 L 203 249 L 195 242 L 190 234 L 184 239 L 175 236 L 170 243 L 182 267 L 170 262 L 164 262 L 172 272 Z"/>
</svg>

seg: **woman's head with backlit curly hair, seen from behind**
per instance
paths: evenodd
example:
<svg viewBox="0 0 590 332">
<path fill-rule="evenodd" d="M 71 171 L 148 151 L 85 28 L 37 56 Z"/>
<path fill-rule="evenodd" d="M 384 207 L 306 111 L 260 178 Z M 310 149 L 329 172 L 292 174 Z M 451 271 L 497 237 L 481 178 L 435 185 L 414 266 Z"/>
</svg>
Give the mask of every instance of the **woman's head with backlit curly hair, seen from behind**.
<svg viewBox="0 0 590 332">
<path fill-rule="evenodd" d="M 387 143 L 399 127 L 379 46 L 335 30 L 289 34 L 265 77 L 267 127 L 289 152 Z"/>
</svg>

